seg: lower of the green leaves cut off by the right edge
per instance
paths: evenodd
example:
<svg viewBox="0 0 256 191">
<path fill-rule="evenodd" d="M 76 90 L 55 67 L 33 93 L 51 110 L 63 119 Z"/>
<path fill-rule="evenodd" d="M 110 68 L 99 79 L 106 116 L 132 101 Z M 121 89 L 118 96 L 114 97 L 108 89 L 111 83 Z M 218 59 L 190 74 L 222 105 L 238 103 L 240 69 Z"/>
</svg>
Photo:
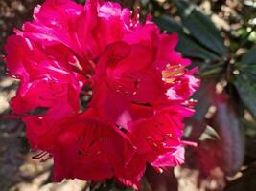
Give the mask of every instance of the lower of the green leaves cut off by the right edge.
<svg viewBox="0 0 256 191">
<path fill-rule="evenodd" d="M 256 117 L 256 84 L 243 76 L 237 76 L 234 84 L 245 107 Z"/>
</svg>

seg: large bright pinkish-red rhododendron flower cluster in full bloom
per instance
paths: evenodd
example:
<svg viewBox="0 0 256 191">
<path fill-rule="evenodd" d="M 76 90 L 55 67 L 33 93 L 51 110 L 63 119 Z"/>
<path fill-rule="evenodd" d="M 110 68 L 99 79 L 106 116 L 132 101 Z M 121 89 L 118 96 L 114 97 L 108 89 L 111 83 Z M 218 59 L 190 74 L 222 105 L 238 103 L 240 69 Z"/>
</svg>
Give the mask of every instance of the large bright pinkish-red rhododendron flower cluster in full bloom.
<svg viewBox="0 0 256 191">
<path fill-rule="evenodd" d="M 115 178 L 139 186 L 184 160 L 182 120 L 198 88 L 177 35 L 140 23 L 119 4 L 46 0 L 8 38 L 7 67 L 20 80 L 12 111 L 33 149 L 54 159 L 55 180 Z M 44 111 L 44 112 L 42 112 Z"/>
</svg>

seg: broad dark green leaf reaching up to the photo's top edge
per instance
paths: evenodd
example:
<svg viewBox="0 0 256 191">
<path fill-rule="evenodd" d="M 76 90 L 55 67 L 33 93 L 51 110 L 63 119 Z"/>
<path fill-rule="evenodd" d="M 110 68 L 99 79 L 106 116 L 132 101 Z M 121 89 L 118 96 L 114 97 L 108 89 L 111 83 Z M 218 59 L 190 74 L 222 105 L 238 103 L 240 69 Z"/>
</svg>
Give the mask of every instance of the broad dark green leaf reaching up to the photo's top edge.
<svg viewBox="0 0 256 191">
<path fill-rule="evenodd" d="M 185 0 L 176 0 L 176 5 L 182 23 L 190 34 L 209 50 L 224 55 L 226 48 L 223 44 L 221 32 L 215 27 L 210 18 Z"/>
</svg>

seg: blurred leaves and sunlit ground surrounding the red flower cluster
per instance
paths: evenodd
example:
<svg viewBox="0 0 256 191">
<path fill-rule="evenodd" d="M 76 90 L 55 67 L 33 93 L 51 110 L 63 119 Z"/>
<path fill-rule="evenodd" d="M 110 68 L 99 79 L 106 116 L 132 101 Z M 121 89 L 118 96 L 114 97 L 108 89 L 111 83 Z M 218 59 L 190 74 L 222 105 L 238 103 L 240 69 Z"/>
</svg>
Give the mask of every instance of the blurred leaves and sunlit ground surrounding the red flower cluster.
<svg viewBox="0 0 256 191">
<path fill-rule="evenodd" d="M 0 0 L 0 54 L 13 28 L 32 20 L 41 0 Z M 84 0 L 77 0 L 84 3 Z M 198 67 L 197 113 L 186 119 L 186 163 L 163 174 L 150 167 L 142 191 L 256 191 L 256 1 L 119 0 L 151 13 L 163 32 L 178 32 L 177 50 Z M 18 81 L 0 59 L 0 190 L 119 191 L 113 180 L 52 182 L 52 161 L 32 159 L 24 125 L 10 114 Z"/>
</svg>

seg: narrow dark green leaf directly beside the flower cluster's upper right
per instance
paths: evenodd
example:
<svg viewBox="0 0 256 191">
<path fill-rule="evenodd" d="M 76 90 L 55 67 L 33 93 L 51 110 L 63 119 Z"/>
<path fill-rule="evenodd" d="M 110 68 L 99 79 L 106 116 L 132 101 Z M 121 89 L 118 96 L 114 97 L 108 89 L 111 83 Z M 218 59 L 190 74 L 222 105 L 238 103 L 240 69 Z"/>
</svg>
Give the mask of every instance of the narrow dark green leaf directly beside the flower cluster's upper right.
<svg viewBox="0 0 256 191">
<path fill-rule="evenodd" d="M 186 57 L 200 58 L 203 60 L 217 60 L 219 58 L 215 53 L 207 51 L 204 47 L 198 44 L 194 39 L 183 32 L 182 26 L 170 16 L 159 16 L 154 18 L 156 24 L 163 30 L 169 33 L 178 32 L 179 42 L 177 50 Z"/>
</svg>

